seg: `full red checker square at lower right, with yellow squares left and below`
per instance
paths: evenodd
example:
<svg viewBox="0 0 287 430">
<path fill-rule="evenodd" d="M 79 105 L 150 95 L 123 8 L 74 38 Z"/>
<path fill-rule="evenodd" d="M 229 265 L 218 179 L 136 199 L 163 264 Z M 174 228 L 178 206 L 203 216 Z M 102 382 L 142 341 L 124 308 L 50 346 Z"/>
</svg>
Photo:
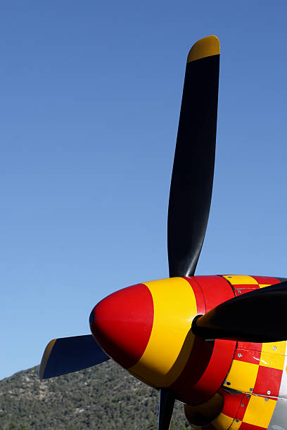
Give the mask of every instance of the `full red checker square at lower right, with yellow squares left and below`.
<svg viewBox="0 0 287 430">
<path fill-rule="evenodd" d="M 253 393 L 263 396 L 278 396 L 282 378 L 282 370 L 259 366 Z M 271 391 L 267 394 L 267 391 Z"/>
</svg>

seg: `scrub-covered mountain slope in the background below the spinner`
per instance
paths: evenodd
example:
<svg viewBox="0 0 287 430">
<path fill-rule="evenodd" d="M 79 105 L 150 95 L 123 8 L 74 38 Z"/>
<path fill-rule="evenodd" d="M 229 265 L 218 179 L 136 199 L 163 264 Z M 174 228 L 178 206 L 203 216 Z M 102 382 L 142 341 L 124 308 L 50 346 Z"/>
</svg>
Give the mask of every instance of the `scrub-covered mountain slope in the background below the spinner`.
<svg viewBox="0 0 287 430">
<path fill-rule="evenodd" d="M 158 391 L 112 360 L 40 382 L 39 367 L 0 381 L 0 429 L 146 429 L 158 422 Z M 191 429 L 176 402 L 172 429 Z"/>
</svg>

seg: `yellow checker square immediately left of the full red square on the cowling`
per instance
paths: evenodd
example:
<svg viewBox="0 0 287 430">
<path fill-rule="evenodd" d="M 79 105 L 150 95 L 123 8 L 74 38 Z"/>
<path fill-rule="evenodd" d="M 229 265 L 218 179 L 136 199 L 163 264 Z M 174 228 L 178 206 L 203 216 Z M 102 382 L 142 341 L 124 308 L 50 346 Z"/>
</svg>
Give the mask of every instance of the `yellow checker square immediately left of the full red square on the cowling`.
<svg viewBox="0 0 287 430">
<path fill-rule="evenodd" d="M 258 369 L 259 364 L 233 360 L 224 386 L 238 391 L 250 392 L 250 389 L 255 386 Z"/>
</svg>

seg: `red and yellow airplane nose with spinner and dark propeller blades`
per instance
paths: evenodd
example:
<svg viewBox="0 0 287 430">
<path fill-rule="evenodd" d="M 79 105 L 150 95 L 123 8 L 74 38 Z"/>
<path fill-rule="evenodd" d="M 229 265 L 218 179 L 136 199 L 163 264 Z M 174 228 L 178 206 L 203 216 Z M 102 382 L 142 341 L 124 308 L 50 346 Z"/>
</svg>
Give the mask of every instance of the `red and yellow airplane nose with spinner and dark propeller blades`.
<svg viewBox="0 0 287 430">
<path fill-rule="evenodd" d="M 195 275 L 215 164 L 220 46 L 189 51 L 167 220 L 170 278 L 120 289 L 91 311 L 91 333 L 53 339 L 40 379 L 112 358 L 160 392 L 158 430 L 175 400 L 191 426 L 287 429 L 287 279 Z"/>
</svg>

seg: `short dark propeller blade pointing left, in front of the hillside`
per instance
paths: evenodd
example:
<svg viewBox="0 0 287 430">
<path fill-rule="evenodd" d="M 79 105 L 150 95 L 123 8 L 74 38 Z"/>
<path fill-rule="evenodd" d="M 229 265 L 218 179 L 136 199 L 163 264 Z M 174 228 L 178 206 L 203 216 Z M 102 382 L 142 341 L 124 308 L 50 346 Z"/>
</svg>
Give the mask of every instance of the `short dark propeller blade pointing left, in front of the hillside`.
<svg viewBox="0 0 287 430">
<path fill-rule="evenodd" d="M 109 358 L 91 334 L 53 339 L 44 351 L 39 378 L 47 379 L 77 372 Z"/>
</svg>

